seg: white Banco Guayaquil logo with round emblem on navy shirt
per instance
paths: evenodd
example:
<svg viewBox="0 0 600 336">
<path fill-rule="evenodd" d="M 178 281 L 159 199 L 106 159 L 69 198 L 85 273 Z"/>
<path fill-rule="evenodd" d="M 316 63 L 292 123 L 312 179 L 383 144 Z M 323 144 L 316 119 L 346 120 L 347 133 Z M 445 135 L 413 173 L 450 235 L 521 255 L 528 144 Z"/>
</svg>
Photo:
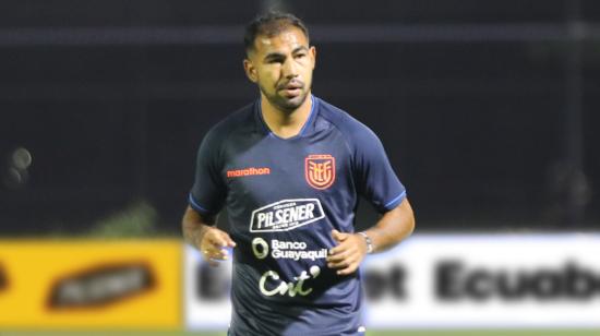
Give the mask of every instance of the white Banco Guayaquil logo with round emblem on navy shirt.
<svg viewBox="0 0 600 336">
<path fill-rule="evenodd" d="M 256 237 L 252 240 L 252 252 L 256 259 L 265 259 L 269 255 L 269 245 L 261 237 Z M 307 243 L 299 241 L 271 241 L 271 257 L 273 259 L 288 259 L 293 261 L 311 260 L 327 257 L 327 249 L 321 249 L 317 251 L 307 251 Z"/>
</svg>

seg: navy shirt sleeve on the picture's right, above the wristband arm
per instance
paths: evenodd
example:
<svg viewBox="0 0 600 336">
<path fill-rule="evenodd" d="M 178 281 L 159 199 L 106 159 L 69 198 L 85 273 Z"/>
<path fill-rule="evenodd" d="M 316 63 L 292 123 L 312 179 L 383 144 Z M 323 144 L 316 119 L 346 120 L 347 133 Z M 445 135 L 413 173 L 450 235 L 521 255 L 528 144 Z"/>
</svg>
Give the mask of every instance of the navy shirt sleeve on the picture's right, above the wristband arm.
<svg viewBox="0 0 600 336">
<path fill-rule="evenodd" d="M 394 172 L 380 139 L 363 127 L 355 134 L 355 181 L 358 192 L 380 212 L 398 206 L 406 189 Z"/>
</svg>

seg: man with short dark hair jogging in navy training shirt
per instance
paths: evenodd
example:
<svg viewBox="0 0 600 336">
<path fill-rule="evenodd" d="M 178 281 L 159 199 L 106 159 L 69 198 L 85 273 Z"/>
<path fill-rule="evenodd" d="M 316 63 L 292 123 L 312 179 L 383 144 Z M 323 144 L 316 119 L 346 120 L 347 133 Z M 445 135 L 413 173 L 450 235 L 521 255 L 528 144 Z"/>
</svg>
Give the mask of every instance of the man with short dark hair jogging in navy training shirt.
<svg viewBox="0 0 600 336">
<path fill-rule="evenodd" d="M 405 188 L 371 130 L 312 96 L 300 20 L 267 13 L 244 43 L 261 97 L 203 140 L 184 237 L 212 265 L 233 251 L 229 335 L 363 335 L 358 268 L 411 233 Z M 383 216 L 355 233 L 359 195 Z M 223 207 L 228 233 L 214 227 Z"/>
</svg>

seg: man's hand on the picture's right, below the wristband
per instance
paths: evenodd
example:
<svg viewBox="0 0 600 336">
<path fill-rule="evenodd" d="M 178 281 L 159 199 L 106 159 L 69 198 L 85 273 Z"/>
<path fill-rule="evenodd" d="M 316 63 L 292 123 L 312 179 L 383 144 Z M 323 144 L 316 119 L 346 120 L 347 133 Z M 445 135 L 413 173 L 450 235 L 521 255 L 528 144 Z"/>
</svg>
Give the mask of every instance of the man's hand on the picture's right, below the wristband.
<svg viewBox="0 0 600 336">
<path fill-rule="evenodd" d="M 332 237 L 337 241 L 337 245 L 329 250 L 327 266 L 338 269 L 338 275 L 352 274 L 367 254 L 364 238 L 357 233 L 341 233 L 338 230 L 333 230 Z"/>
</svg>

